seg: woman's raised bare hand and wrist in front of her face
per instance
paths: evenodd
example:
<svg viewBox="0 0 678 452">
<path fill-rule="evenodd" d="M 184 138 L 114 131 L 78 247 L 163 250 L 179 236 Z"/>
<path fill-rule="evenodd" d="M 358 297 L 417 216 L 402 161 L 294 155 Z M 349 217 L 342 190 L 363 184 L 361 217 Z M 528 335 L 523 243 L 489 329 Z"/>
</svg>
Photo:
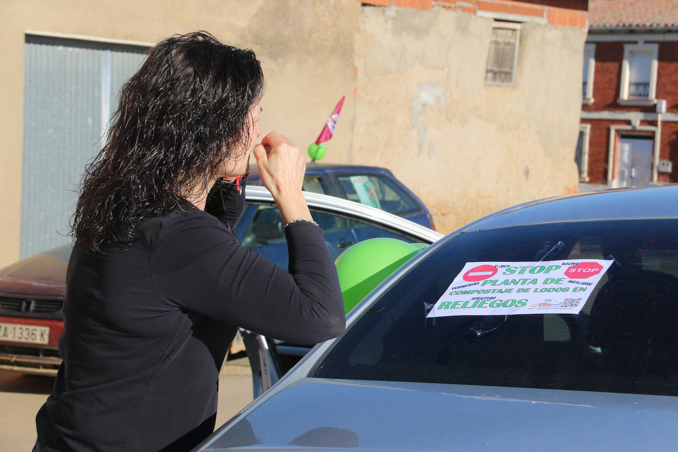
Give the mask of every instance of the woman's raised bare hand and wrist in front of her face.
<svg viewBox="0 0 678 452">
<path fill-rule="evenodd" d="M 287 137 L 271 132 L 254 146 L 254 157 L 261 182 L 273 194 L 283 222 L 287 224 L 297 218 L 312 221 L 311 212 L 301 194 L 306 163 L 299 148 Z"/>
</svg>

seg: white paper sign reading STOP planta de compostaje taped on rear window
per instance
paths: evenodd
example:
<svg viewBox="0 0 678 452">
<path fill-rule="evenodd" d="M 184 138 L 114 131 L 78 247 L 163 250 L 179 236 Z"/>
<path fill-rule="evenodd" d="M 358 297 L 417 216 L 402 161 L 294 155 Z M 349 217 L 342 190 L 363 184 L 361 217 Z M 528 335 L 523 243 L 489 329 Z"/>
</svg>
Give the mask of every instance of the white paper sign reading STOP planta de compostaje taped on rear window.
<svg viewBox="0 0 678 452">
<path fill-rule="evenodd" d="M 612 262 L 467 262 L 426 317 L 579 314 Z"/>
</svg>

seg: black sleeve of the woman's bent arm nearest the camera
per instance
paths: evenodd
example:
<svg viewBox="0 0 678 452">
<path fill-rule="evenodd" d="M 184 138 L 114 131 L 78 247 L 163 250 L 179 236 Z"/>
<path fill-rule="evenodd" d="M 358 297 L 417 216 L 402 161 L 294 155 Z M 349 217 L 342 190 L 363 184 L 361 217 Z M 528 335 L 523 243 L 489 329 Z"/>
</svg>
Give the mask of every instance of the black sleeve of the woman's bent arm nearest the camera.
<svg viewBox="0 0 678 452">
<path fill-rule="evenodd" d="M 315 344 L 336 337 L 344 306 L 323 230 L 294 222 L 285 235 L 290 272 L 242 247 L 205 212 L 167 220 L 152 238 L 153 281 L 170 304 L 275 339 Z"/>
</svg>

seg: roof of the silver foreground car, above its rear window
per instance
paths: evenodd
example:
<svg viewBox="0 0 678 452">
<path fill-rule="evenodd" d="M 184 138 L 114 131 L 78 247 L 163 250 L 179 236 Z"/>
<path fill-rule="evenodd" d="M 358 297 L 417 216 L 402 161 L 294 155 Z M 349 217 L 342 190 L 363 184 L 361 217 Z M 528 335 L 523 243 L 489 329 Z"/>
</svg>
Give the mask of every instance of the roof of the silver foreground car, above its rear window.
<svg viewBox="0 0 678 452">
<path fill-rule="evenodd" d="M 527 224 L 678 218 L 677 200 L 678 184 L 583 192 L 515 205 L 456 232 Z"/>
</svg>

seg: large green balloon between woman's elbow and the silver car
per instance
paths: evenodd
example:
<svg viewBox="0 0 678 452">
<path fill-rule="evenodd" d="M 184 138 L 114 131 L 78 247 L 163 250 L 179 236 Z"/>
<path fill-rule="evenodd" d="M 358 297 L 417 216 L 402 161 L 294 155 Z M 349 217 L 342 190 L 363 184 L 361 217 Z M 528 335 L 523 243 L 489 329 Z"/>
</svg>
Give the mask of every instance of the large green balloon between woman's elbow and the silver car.
<svg viewBox="0 0 678 452">
<path fill-rule="evenodd" d="M 346 313 L 391 273 L 412 259 L 423 243 L 380 237 L 356 243 L 334 261 Z"/>
</svg>

